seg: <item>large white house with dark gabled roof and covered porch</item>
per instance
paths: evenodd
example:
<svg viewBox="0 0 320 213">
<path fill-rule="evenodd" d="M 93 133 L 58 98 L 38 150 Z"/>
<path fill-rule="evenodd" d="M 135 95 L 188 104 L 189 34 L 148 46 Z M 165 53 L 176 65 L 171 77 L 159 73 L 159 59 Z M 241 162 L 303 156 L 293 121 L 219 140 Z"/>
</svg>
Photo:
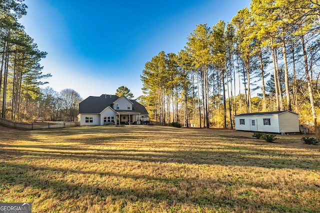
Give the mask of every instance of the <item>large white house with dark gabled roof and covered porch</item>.
<svg viewBox="0 0 320 213">
<path fill-rule="evenodd" d="M 141 124 L 148 120 L 145 107 L 125 96 L 89 96 L 79 103 L 80 126 Z"/>
</svg>

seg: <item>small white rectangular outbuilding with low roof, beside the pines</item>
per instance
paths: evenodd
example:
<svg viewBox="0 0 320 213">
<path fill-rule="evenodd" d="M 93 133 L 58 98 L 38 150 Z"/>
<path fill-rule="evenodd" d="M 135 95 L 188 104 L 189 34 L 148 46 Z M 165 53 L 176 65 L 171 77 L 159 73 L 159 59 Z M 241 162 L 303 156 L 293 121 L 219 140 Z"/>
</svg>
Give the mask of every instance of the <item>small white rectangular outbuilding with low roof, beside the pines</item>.
<svg viewBox="0 0 320 213">
<path fill-rule="evenodd" d="M 234 116 L 235 130 L 271 133 L 299 132 L 298 114 L 291 111 L 245 113 Z"/>
</svg>

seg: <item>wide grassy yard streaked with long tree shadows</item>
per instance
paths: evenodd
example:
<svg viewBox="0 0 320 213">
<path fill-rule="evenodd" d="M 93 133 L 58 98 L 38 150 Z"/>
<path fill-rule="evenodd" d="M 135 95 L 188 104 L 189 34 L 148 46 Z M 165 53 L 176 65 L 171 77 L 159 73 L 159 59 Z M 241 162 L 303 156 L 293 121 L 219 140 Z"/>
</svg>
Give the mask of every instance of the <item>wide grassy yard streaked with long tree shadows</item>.
<svg viewBox="0 0 320 213">
<path fill-rule="evenodd" d="M 0 202 L 32 202 L 32 213 L 320 212 L 320 146 L 251 135 L 0 126 Z"/>
</svg>

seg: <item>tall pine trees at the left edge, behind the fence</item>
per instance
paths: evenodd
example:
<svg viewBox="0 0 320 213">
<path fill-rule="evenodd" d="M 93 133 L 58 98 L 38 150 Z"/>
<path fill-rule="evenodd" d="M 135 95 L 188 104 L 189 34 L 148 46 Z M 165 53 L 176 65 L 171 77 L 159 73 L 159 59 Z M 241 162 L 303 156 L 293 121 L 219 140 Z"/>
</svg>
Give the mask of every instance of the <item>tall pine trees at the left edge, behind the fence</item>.
<svg viewBox="0 0 320 213">
<path fill-rule="evenodd" d="M 0 117 L 11 120 L 28 118 L 39 85 L 46 83 L 40 80 L 51 76 L 39 64 L 46 52 L 18 22 L 26 8 L 23 0 L 0 1 Z"/>
</svg>

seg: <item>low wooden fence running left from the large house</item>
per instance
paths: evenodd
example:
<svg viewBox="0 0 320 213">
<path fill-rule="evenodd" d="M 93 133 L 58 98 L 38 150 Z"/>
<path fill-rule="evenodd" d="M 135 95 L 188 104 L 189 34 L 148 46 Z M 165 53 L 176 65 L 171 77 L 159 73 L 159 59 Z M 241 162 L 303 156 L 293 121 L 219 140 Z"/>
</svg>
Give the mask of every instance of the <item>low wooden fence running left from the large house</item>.
<svg viewBox="0 0 320 213">
<path fill-rule="evenodd" d="M 79 122 L 35 122 L 35 123 L 21 123 L 13 122 L 0 118 L 0 124 L 3 126 L 15 128 L 15 129 L 57 129 L 70 126 L 80 126 Z"/>
</svg>

